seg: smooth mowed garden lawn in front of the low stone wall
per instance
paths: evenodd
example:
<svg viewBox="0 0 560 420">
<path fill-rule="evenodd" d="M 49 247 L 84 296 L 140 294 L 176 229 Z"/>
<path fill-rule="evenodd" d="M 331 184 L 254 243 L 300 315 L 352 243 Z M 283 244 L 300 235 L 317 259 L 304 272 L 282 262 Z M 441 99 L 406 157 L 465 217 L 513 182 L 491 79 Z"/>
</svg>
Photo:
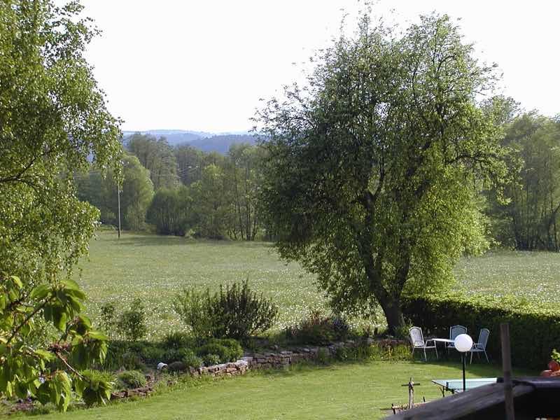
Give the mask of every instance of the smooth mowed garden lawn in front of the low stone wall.
<svg viewBox="0 0 560 420">
<path fill-rule="evenodd" d="M 535 372 L 517 371 L 519 376 Z M 408 402 L 401 384 L 416 383 L 416 401 L 441 398 L 431 379 L 460 378 L 459 358 L 440 363 L 369 362 L 251 374 L 107 407 L 41 416 L 41 420 L 382 419 Z M 497 377 L 498 367 L 468 365 L 468 377 Z"/>
</svg>

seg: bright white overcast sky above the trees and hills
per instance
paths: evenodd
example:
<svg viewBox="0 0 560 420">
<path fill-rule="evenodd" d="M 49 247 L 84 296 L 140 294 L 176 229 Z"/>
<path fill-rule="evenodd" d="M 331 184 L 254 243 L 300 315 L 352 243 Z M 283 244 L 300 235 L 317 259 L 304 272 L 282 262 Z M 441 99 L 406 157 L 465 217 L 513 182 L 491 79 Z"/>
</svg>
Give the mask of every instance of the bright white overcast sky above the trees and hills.
<svg viewBox="0 0 560 420">
<path fill-rule="evenodd" d="M 102 30 L 87 61 L 130 131 L 249 130 L 259 99 L 304 80 L 309 57 L 339 34 L 344 13 L 351 27 L 360 8 L 353 0 L 82 3 Z M 460 18 L 477 57 L 503 71 L 500 93 L 524 109 L 560 113 L 560 1 L 379 0 L 372 10 L 405 27 L 432 11 Z"/>
</svg>

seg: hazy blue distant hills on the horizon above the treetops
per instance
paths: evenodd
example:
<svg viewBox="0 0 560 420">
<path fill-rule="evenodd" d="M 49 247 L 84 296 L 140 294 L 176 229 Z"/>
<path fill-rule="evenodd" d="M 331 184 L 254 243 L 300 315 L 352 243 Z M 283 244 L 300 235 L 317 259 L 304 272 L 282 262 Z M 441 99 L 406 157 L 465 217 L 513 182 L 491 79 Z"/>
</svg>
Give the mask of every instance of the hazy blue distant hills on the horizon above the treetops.
<svg viewBox="0 0 560 420">
<path fill-rule="evenodd" d="M 247 132 L 231 132 L 231 133 L 210 133 L 195 132 L 188 130 L 146 130 L 146 131 L 125 131 L 123 132 L 123 141 L 126 144 L 127 137 L 134 133 L 151 134 L 155 137 L 165 137 L 167 143 L 171 146 L 179 146 L 180 144 L 190 144 L 196 148 L 200 148 L 205 152 L 218 152 L 223 155 L 228 153 L 232 144 L 248 143 L 255 144 L 253 135 Z"/>
</svg>

